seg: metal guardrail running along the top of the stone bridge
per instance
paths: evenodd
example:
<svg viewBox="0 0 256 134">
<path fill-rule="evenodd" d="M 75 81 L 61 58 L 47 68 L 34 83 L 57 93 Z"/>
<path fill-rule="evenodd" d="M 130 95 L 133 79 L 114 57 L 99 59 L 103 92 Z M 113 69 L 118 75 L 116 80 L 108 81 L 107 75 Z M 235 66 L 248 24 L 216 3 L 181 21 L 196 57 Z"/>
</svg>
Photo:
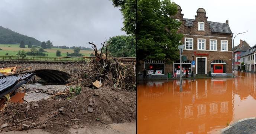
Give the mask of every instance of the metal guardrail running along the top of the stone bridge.
<svg viewBox="0 0 256 134">
<path fill-rule="evenodd" d="M 85 62 L 84 58 L 0 56 L 0 62 Z"/>
</svg>

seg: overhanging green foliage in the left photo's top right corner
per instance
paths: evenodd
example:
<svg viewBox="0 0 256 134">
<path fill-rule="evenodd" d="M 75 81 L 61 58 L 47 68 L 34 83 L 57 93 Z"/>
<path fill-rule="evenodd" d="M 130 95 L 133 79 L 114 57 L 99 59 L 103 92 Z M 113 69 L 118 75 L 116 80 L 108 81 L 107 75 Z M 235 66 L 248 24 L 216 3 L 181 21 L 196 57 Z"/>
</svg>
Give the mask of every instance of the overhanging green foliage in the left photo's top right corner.
<svg viewBox="0 0 256 134">
<path fill-rule="evenodd" d="M 136 33 L 136 0 L 112 0 L 115 7 L 120 7 L 123 14 L 122 28 L 127 34 L 135 36 Z"/>
</svg>

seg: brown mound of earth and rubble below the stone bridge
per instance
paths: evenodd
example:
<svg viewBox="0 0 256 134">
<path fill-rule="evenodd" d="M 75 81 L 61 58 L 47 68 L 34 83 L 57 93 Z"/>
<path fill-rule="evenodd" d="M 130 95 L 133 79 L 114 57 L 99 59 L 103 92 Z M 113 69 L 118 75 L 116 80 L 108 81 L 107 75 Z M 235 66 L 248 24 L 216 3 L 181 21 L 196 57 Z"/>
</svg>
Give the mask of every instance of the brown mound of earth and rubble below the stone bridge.
<svg viewBox="0 0 256 134">
<path fill-rule="evenodd" d="M 135 121 L 136 93 L 110 86 L 85 87 L 71 98 L 9 102 L 0 116 L 0 132 L 41 128 L 50 133 L 70 133 L 73 126 Z"/>
</svg>

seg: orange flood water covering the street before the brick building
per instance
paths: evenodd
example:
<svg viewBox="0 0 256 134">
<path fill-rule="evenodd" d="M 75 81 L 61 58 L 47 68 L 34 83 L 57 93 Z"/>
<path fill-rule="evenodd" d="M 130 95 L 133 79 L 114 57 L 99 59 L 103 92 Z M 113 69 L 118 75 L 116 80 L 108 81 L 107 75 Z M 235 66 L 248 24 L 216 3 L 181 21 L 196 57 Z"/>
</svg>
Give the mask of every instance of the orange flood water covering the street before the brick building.
<svg viewBox="0 0 256 134">
<path fill-rule="evenodd" d="M 137 86 L 138 134 L 219 133 L 242 118 L 256 117 L 256 74 L 236 78 L 142 82 Z"/>
</svg>

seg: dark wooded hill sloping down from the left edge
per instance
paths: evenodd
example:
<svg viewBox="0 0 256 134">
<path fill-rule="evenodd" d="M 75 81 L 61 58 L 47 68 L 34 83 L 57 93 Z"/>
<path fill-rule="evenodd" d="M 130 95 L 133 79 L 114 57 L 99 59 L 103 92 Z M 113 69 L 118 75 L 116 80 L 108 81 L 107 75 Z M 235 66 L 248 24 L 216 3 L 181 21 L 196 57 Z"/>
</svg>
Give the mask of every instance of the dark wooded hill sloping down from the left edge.
<svg viewBox="0 0 256 134">
<path fill-rule="evenodd" d="M 9 28 L 0 26 L 0 44 L 20 44 L 22 40 L 25 44 L 28 44 L 30 41 L 33 45 L 41 45 L 41 42 L 35 38 L 22 35 Z"/>
</svg>

